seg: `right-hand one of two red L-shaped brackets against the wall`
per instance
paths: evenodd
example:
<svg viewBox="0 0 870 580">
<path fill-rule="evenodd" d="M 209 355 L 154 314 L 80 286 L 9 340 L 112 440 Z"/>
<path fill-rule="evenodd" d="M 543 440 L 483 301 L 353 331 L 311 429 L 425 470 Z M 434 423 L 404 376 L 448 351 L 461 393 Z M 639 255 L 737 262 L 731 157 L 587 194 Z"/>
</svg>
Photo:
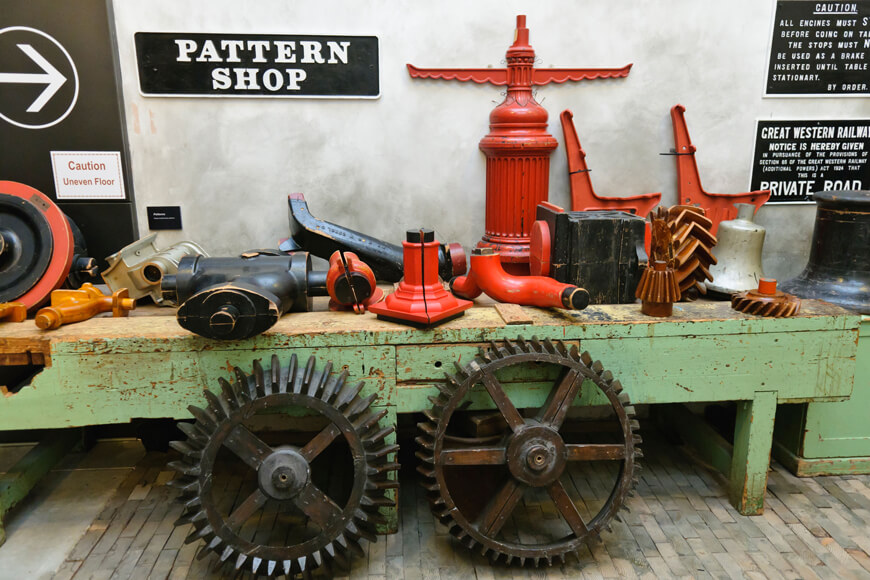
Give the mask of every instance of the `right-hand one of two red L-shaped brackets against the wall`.
<svg viewBox="0 0 870 580">
<path fill-rule="evenodd" d="M 735 203 L 751 203 L 758 211 L 770 199 L 770 191 L 750 191 L 747 193 L 709 193 L 701 185 L 698 162 L 695 160 L 697 147 L 692 145 L 689 128 L 684 113 L 686 107 L 674 105 L 671 108 L 671 121 L 674 124 L 674 155 L 677 158 L 677 199 L 678 205 L 697 205 L 707 210 L 707 217 L 713 222 L 710 233 L 714 236 L 719 230 L 719 222 L 737 217 Z"/>
</svg>

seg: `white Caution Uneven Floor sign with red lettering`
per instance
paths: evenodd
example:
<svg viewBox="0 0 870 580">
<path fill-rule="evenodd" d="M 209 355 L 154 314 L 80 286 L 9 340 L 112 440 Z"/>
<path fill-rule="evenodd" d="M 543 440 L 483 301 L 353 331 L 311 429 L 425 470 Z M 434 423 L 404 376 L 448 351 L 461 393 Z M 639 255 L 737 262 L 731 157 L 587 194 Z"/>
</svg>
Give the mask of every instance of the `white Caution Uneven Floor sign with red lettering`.
<svg viewBox="0 0 870 580">
<path fill-rule="evenodd" d="M 57 199 L 126 199 L 120 151 L 52 151 Z"/>
</svg>

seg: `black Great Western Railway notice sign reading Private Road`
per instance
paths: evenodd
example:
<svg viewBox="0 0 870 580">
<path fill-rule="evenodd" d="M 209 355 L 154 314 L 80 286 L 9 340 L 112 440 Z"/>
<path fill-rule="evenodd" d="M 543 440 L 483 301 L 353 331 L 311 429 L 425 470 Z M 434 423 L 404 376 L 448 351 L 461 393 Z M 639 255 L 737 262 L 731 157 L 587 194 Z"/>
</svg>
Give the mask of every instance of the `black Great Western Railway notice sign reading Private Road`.
<svg viewBox="0 0 870 580">
<path fill-rule="evenodd" d="M 812 202 L 816 191 L 870 187 L 870 119 L 758 121 L 750 189 L 768 203 Z"/>
</svg>

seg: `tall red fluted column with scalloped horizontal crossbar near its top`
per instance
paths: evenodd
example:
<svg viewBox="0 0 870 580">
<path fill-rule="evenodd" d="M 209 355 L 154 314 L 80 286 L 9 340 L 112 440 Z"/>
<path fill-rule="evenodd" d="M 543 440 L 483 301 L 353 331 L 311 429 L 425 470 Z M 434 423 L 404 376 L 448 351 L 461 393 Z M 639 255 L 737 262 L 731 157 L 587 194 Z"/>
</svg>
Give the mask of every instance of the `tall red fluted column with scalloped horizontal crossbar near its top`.
<svg viewBox="0 0 870 580">
<path fill-rule="evenodd" d="M 486 155 L 486 233 L 478 248 L 491 248 L 514 274 L 529 273 L 529 244 L 537 205 L 547 201 L 550 155 L 557 146 L 547 132 L 547 111 L 532 95 L 532 86 L 628 75 L 631 65 L 612 69 L 535 69 L 526 17 L 517 16 L 514 43 L 506 68 L 420 69 L 416 78 L 507 85 L 504 102 L 489 117 L 490 133 L 480 141 Z"/>
</svg>

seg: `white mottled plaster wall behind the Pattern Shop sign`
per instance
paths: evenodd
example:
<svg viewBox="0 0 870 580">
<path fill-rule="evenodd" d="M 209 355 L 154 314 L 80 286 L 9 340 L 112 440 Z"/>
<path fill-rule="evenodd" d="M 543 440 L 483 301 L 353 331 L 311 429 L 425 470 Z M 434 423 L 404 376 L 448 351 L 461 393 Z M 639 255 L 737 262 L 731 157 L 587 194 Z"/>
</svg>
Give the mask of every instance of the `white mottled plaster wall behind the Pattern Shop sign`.
<svg viewBox="0 0 870 580">
<path fill-rule="evenodd" d="M 748 188 L 756 119 L 849 118 L 870 99 L 763 99 L 773 0 L 520 2 L 115 0 L 125 113 L 141 234 L 145 206 L 181 205 L 182 232 L 213 255 L 274 247 L 286 195 L 312 213 L 399 242 L 434 227 L 472 246 L 483 233 L 477 144 L 501 89 L 411 79 L 421 67 L 503 66 L 517 14 L 528 15 L 539 66 L 622 66 L 626 79 L 540 87 L 559 140 L 550 200 L 568 206 L 559 113 L 570 108 L 603 195 L 661 191 L 676 202 L 670 107 L 686 106 L 708 191 Z M 377 100 L 155 98 L 138 90 L 135 32 L 376 35 Z M 765 266 L 802 268 L 814 206 L 762 208 Z"/>
</svg>

